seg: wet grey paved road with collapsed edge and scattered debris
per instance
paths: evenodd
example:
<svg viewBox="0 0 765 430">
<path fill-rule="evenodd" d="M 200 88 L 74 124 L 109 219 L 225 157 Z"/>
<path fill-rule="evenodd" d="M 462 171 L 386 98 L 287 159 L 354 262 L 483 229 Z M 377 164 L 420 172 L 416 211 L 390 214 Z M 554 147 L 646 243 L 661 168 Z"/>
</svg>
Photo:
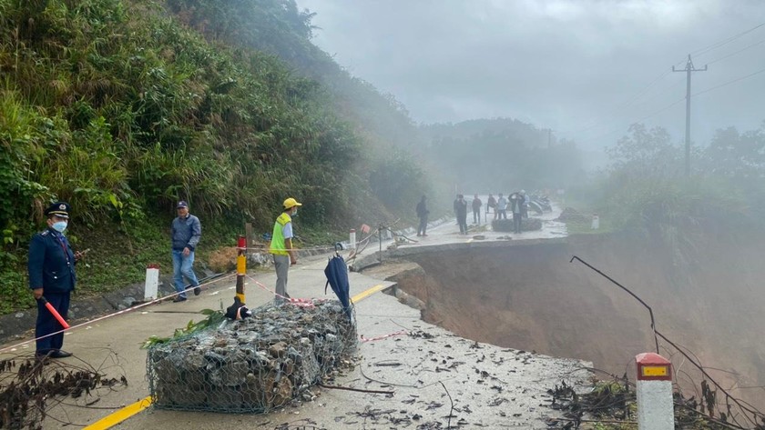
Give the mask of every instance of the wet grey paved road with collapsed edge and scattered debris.
<svg viewBox="0 0 765 430">
<path fill-rule="evenodd" d="M 554 213 L 545 218 L 550 220 L 556 216 Z M 506 235 L 480 231 L 476 234 L 484 235 L 479 240 L 506 241 L 507 236 L 513 239 L 540 239 L 561 237 L 566 233 L 565 225 L 561 227 L 554 222 L 546 222 L 541 232 Z M 413 239 L 420 238 L 415 236 Z M 457 225 L 451 220 L 434 226 L 428 237 L 407 246 L 438 246 L 474 240 L 474 235 L 459 235 Z M 387 248 L 391 242 L 383 245 Z M 371 244 L 364 254 L 372 254 L 377 249 L 376 243 Z M 293 297 L 325 297 L 323 269 L 326 263 L 327 259 L 319 256 L 302 260 L 294 266 L 290 273 L 290 294 Z M 255 281 L 272 287 L 275 275 L 270 271 L 249 275 L 246 294 L 250 307 L 265 304 L 273 298 Z M 351 273 L 350 281 L 351 295 L 358 295 L 377 285 L 393 285 L 359 273 Z M 75 354 L 66 359 L 67 363 L 82 361 L 100 367 L 110 376 L 125 375 L 129 385 L 114 392 L 100 392 L 97 404 L 87 407 L 84 404 L 92 401 L 93 397 L 67 399 L 69 405 L 49 410 L 45 428 L 58 428 L 66 424 L 92 425 L 126 405 L 144 399 L 148 395 L 146 351 L 139 345 L 150 335 L 171 335 L 176 327 L 186 325 L 189 320 L 201 319 L 199 311 L 202 309 L 229 306 L 234 285 L 235 277 L 229 276 L 206 285 L 197 297 L 189 295 L 189 300 L 184 303 L 150 305 L 67 333 L 66 350 Z M 327 297 L 333 298 L 331 291 Z M 365 297 L 357 303 L 356 313 L 360 335 L 386 335 L 403 328 L 410 334 L 419 334 L 362 343 L 359 348 L 362 356 L 360 365 L 337 380 L 337 384 L 343 386 L 393 388 L 396 391 L 393 396 L 316 389 L 318 397 L 314 401 L 297 407 L 289 406 L 268 415 L 222 415 L 149 408 L 115 428 L 202 429 L 240 428 L 241 425 L 271 428 L 282 423 L 315 423 L 317 428 L 390 428 L 392 425 L 395 427 L 396 423 L 409 423 L 416 427 L 426 422 L 441 422 L 445 426 L 450 411 L 454 422 L 462 419 L 464 424 L 494 426 L 513 422 L 515 425 L 541 428 L 545 425 L 539 421 L 540 417 L 550 412 L 538 407 L 545 390 L 563 378 L 576 379 L 576 369 L 581 368 L 577 360 L 530 355 L 493 345 L 477 345 L 458 338 L 439 327 L 423 323 L 419 311 L 401 305 L 391 295 L 377 293 Z M 32 348 L 34 345 L 19 348 L 15 353 Z M 0 355 L 0 358 L 6 356 Z M 383 359 L 397 360 L 399 365 L 375 365 Z M 366 375 L 361 374 L 361 369 Z M 374 383 L 370 378 L 382 382 Z M 451 409 L 453 405 L 454 410 Z M 301 422 L 301 419 L 311 421 Z"/>
</svg>

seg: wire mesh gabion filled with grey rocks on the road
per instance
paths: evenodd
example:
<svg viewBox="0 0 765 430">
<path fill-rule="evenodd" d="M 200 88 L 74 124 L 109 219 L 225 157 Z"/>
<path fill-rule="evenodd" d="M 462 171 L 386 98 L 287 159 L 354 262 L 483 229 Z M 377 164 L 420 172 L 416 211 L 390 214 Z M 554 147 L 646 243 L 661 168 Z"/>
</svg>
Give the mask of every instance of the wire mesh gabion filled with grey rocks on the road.
<svg viewBox="0 0 765 430">
<path fill-rule="evenodd" d="M 263 305 L 252 316 L 148 349 L 161 409 L 261 413 L 288 405 L 351 357 L 355 314 L 340 302 Z"/>
</svg>

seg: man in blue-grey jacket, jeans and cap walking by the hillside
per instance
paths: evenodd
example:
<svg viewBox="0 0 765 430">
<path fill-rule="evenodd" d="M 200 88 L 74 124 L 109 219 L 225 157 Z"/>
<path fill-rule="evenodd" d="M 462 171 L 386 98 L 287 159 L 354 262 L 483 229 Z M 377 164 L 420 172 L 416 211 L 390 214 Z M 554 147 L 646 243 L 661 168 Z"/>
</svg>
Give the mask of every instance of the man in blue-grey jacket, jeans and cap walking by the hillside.
<svg viewBox="0 0 765 430">
<path fill-rule="evenodd" d="M 189 204 L 181 200 L 176 205 L 178 216 L 170 225 L 170 240 L 173 251 L 173 283 L 176 287 L 176 298 L 173 302 L 186 301 L 186 288 L 183 284 L 184 276 L 189 279 L 194 287 L 194 295 L 199 295 L 199 280 L 194 273 L 194 251 L 199 245 L 202 236 L 202 224 L 199 218 L 189 214 Z"/>
</svg>

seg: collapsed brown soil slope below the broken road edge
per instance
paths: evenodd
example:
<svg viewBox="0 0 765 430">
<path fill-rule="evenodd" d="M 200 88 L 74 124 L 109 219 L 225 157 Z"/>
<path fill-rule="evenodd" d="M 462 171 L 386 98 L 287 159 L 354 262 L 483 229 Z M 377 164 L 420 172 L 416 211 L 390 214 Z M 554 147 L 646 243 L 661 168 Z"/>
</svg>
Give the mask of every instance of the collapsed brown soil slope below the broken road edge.
<svg viewBox="0 0 765 430">
<path fill-rule="evenodd" d="M 658 331 L 726 388 L 765 385 L 765 240 L 729 242 L 716 238 L 684 254 L 614 236 L 473 246 L 408 255 L 419 267 L 391 280 L 423 301 L 425 321 L 457 335 L 633 376 L 634 356 L 655 350 L 648 310 L 586 265 L 569 263 L 577 255 L 652 306 Z M 687 263 L 673 263 L 678 253 Z M 674 348 L 659 344 L 662 355 L 683 364 Z M 682 370 L 699 385 L 699 372 L 687 363 Z M 730 393 L 765 406 L 761 388 Z"/>
</svg>

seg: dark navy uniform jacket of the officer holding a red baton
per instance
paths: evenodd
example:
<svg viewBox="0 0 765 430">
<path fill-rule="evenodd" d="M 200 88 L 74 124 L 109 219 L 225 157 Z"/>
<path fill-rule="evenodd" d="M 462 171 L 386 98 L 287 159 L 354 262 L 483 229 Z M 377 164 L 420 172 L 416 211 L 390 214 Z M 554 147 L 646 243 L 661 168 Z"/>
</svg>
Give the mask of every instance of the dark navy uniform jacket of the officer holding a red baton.
<svg viewBox="0 0 765 430">
<path fill-rule="evenodd" d="M 48 228 L 32 236 L 29 244 L 29 287 L 46 293 L 67 293 L 75 289 L 75 254 L 66 240 Z"/>
</svg>

